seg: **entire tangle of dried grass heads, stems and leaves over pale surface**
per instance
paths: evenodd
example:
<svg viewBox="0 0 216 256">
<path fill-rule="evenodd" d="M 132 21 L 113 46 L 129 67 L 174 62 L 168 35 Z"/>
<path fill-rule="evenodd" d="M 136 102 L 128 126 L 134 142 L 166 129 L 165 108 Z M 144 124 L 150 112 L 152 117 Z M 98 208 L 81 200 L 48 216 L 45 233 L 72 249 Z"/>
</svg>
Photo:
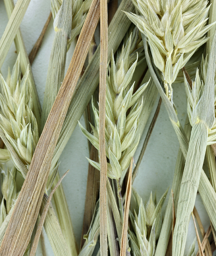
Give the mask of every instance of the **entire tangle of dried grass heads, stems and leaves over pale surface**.
<svg viewBox="0 0 216 256">
<path fill-rule="evenodd" d="M 29 3 L 18 0 L 14 6 L 12 0 L 4 0 L 9 21 L 0 39 L 0 67 L 13 40 L 18 55 L 12 72 L 8 69 L 6 77 L 0 73 L 0 255 L 33 256 L 39 238 L 47 255 L 44 227 L 55 256 L 212 256 L 215 1 L 122 0 L 117 8 L 112 0 L 107 8 L 105 0 L 51 0 L 51 13 L 28 58 L 19 27 Z M 41 110 L 31 64 L 52 18 L 55 35 Z M 65 75 L 67 52 L 77 37 Z M 174 102 L 179 82 L 184 82 L 187 100 L 184 128 Z M 157 202 L 152 192 L 148 200 L 141 198 L 134 180 L 138 170 L 145 171 L 140 163 L 162 101 L 180 148 L 173 182 Z M 84 112 L 86 127 L 78 121 Z M 61 184 L 68 171 L 60 179 L 58 170 L 78 122 L 89 140 L 80 249 Z M 140 148 L 136 164 L 134 155 Z M 205 156 L 209 178 L 203 170 Z M 197 191 L 208 214 L 206 231 L 194 206 Z M 191 218 L 196 238 L 187 250 Z"/>
</svg>

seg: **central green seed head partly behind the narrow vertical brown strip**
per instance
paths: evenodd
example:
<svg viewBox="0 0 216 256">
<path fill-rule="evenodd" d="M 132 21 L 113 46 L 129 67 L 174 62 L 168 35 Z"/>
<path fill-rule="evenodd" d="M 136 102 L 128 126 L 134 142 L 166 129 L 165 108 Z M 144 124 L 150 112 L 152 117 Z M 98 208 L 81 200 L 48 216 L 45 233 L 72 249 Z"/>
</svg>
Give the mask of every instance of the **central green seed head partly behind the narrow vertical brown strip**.
<svg viewBox="0 0 216 256">
<path fill-rule="evenodd" d="M 134 30 L 134 33 L 137 33 Z M 122 47 L 121 51 L 117 52 L 116 61 L 112 53 L 110 65 L 107 68 L 106 80 L 106 123 L 105 123 L 105 139 L 106 139 L 106 157 L 109 159 L 107 163 L 107 176 L 111 179 L 119 179 L 125 174 L 131 157 L 134 155 L 139 139 L 135 140 L 135 133 L 139 122 L 139 114 L 142 110 L 142 99 L 140 96 L 148 85 L 148 82 L 143 84 L 134 94 L 134 84 L 130 82 L 135 71 L 138 61 L 136 59 L 130 63 L 130 49 L 135 46 L 131 43 L 131 38 L 127 40 L 126 46 Z M 136 44 L 135 44 L 136 45 Z M 131 53 L 133 54 L 133 53 Z M 90 134 L 80 125 L 83 134 L 91 141 L 95 148 L 99 150 L 99 112 L 93 105 L 96 126 L 92 127 L 93 134 Z M 127 113 L 129 111 L 129 113 Z M 100 164 L 88 159 L 89 163 L 96 169 L 100 170 Z"/>
</svg>

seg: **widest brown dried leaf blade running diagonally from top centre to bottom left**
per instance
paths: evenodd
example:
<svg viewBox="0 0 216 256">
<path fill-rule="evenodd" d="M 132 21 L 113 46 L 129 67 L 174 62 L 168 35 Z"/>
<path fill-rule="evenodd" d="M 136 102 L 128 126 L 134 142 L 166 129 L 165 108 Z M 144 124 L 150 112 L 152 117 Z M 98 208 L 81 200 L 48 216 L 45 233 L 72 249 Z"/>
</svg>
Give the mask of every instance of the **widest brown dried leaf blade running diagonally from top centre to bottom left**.
<svg viewBox="0 0 216 256">
<path fill-rule="evenodd" d="M 99 2 L 95 0 L 90 7 L 68 72 L 35 149 L 27 177 L 2 241 L 0 255 L 15 256 L 24 253 L 31 238 L 48 179 L 53 151 L 98 23 L 98 6 Z"/>
</svg>

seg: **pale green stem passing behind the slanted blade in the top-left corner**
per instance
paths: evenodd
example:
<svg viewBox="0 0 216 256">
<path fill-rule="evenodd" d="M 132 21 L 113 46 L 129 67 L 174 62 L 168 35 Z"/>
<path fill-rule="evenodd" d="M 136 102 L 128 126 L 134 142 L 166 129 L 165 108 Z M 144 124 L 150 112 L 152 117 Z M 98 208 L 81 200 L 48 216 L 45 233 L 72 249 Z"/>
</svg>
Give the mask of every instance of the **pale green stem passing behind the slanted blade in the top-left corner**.
<svg viewBox="0 0 216 256">
<path fill-rule="evenodd" d="M 17 6 L 18 2 L 16 3 L 16 6 Z M 13 0 L 4 0 L 4 3 L 5 3 L 7 16 L 10 19 L 10 17 L 13 17 L 12 16 L 12 13 L 14 13 L 13 10 L 15 10 L 14 2 L 13 2 Z M 27 68 L 29 68 L 29 79 L 30 79 L 31 87 L 32 87 L 32 100 L 33 100 L 32 111 L 35 115 L 35 118 L 37 120 L 37 125 L 39 127 L 40 126 L 41 107 L 40 107 L 39 98 L 37 95 L 35 81 L 33 78 L 32 71 L 31 71 L 31 64 L 28 59 L 28 55 L 27 55 L 26 47 L 25 47 L 25 44 L 23 41 L 23 36 L 22 36 L 21 30 L 17 29 L 16 32 L 14 32 L 14 33 L 15 33 L 14 43 L 15 43 L 17 53 L 20 54 L 20 68 L 21 68 L 23 75 L 26 73 Z"/>
</svg>

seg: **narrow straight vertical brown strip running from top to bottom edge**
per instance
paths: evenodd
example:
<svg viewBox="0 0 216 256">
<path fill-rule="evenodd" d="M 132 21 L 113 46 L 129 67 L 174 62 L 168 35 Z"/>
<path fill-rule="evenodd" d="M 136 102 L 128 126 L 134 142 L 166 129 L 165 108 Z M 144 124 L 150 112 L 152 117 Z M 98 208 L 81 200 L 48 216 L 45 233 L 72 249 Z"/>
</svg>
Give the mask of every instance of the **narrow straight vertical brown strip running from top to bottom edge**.
<svg viewBox="0 0 216 256">
<path fill-rule="evenodd" d="M 107 255 L 107 227 L 106 227 L 106 141 L 105 141 L 105 116 L 106 116 L 106 66 L 108 47 L 107 26 L 107 1 L 100 0 L 101 20 L 101 47 L 100 47 L 100 87 L 99 87 L 99 153 L 100 153 L 100 246 L 101 256 Z"/>
</svg>

